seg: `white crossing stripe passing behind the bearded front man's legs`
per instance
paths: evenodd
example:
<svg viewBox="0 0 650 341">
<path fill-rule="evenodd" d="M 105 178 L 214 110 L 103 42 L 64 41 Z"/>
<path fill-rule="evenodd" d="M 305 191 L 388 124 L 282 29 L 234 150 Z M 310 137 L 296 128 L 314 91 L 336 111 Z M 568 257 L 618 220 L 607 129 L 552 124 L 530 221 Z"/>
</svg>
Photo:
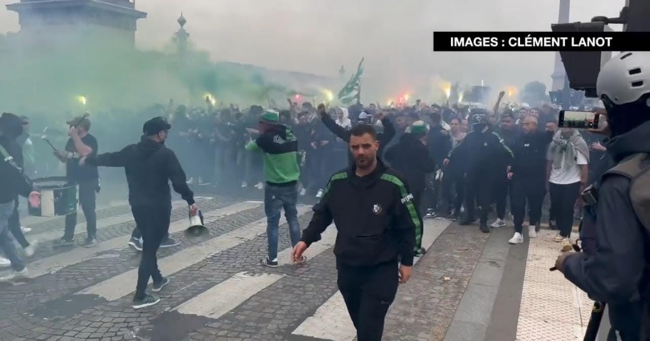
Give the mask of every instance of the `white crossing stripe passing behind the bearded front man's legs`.
<svg viewBox="0 0 650 341">
<path fill-rule="evenodd" d="M 430 248 L 435 239 L 442 233 L 451 222 L 449 220 L 424 220 L 424 235 L 422 235 L 422 247 Z M 416 257 L 414 264 L 420 260 Z M 320 305 L 313 316 L 304 320 L 298 328 L 293 331 L 294 335 L 311 336 L 333 341 L 352 341 L 357 336 L 357 331 L 350 320 L 348 309 L 341 292 L 337 291 L 330 299 Z"/>
</svg>

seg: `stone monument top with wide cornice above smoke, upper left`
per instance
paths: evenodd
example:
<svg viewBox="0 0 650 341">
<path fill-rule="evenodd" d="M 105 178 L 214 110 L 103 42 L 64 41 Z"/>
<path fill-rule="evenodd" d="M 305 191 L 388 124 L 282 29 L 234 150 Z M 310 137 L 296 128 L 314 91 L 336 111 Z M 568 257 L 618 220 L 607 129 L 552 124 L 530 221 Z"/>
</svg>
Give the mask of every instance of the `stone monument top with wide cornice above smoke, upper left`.
<svg viewBox="0 0 650 341">
<path fill-rule="evenodd" d="M 147 16 L 130 0 L 20 0 L 6 8 L 18 13 L 21 41 L 35 44 L 101 37 L 135 45 L 136 21 Z"/>
</svg>

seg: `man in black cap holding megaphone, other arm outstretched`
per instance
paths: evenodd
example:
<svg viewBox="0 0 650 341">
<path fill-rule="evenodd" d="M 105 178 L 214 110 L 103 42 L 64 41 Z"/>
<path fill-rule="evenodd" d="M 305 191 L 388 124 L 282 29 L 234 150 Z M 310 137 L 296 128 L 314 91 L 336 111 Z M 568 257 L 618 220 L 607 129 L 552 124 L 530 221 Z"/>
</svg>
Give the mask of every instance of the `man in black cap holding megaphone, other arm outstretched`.
<svg viewBox="0 0 650 341">
<path fill-rule="evenodd" d="M 194 193 L 187 186 L 181 164 L 174 152 L 164 145 L 171 127 L 164 117 L 155 117 L 144 123 L 144 135 L 140 143 L 128 145 L 119 152 L 81 160 L 81 164 L 124 167 L 129 184 L 129 204 L 143 240 L 138 284 L 133 298 L 135 309 L 160 301 L 145 292 L 149 277 L 153 279 L 154 292 L 160 291 L 169 283 L 169 279 L 162 277 L 158 270 L 156 252 L 169 230 L 172 213 L 172 194 L 168 185 L 170 180 L 174 191 L 181 194 L 190 206 L 190 215 L 198 211 L 194 204 Z"/>
</svg>

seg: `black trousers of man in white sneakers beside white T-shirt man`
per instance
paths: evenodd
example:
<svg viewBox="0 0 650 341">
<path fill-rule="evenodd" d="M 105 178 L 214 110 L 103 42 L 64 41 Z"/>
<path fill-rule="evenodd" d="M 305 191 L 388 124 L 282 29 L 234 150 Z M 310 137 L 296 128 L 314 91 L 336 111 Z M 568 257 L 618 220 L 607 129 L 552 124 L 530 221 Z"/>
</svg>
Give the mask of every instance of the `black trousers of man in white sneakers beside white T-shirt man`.
<svg viewBox="0 0 650 341">
<path fill-rule="evenodd" d="M 515 232 L 521 233 L 522 224 L 526 217 L 526 202 L 528 203 L 528 223 L 530 226 L 538 226 L 541 222 L 541 206 L 544 202 L 546 189 L 543 176 L 521 176 L 513 178 L 512 196 L 510 206 L 514 216 Z"/>
</svg>

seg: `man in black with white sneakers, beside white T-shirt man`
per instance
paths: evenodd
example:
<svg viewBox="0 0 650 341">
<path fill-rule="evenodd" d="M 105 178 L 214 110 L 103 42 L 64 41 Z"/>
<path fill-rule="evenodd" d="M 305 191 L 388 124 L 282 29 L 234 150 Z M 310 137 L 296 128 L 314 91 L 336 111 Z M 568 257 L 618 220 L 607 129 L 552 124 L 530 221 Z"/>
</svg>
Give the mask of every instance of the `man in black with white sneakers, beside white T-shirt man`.
<svg viewBox="0 0 650 341">
<path fill-rule="evenodd" d="M 523 242 L 522 224 L 528 202 L 528 237 L 537 236 L 541 221 L 541 206 L 546 194 L 546 154 L 553 139 L 553 132 L 540 132 L 537 119 L 526 116 L 523 120 L 523 134 L 513 143 L 512 167 L 508 178 L 512 180 L 510 206 L 514 217 L 515 235 L 510 244 Z M 517 235 L 519 233 L 519 235 Z"/>
</svg>

